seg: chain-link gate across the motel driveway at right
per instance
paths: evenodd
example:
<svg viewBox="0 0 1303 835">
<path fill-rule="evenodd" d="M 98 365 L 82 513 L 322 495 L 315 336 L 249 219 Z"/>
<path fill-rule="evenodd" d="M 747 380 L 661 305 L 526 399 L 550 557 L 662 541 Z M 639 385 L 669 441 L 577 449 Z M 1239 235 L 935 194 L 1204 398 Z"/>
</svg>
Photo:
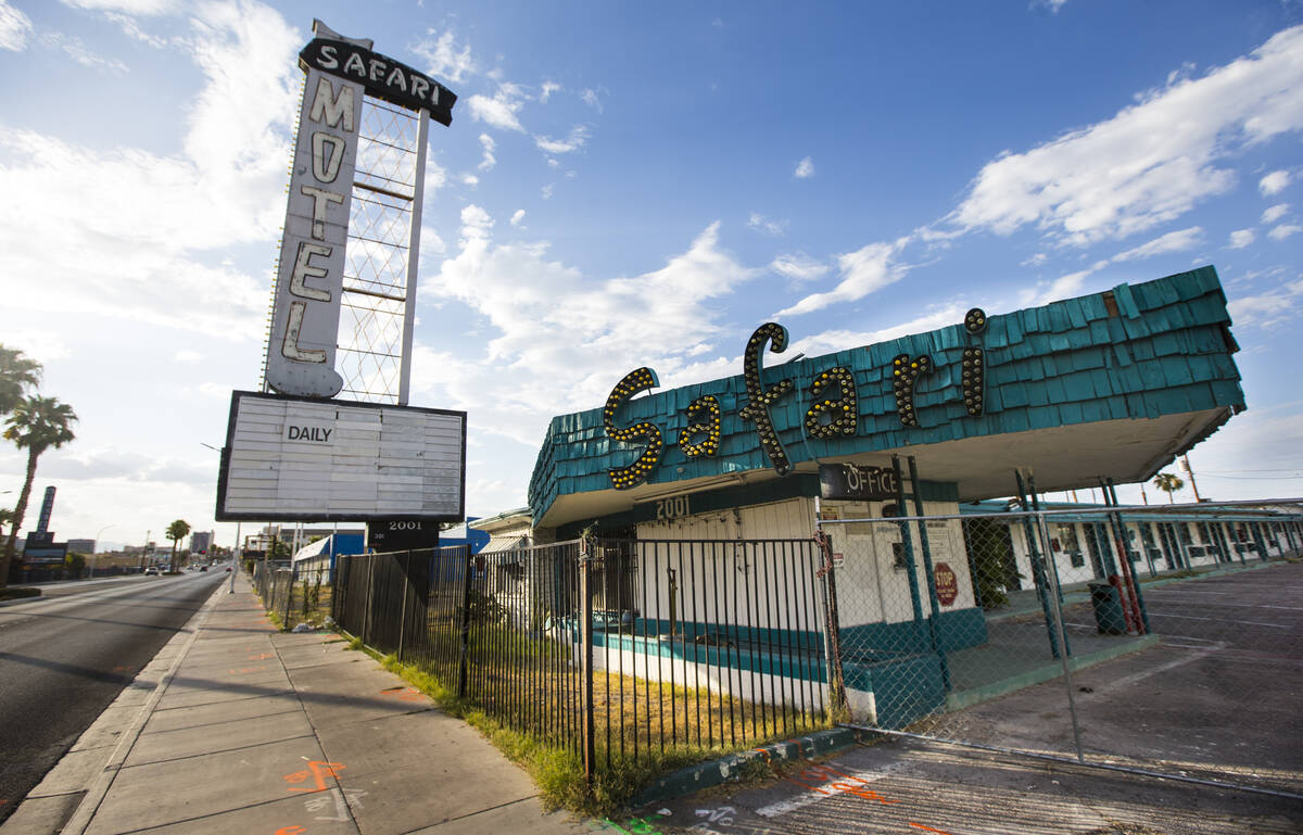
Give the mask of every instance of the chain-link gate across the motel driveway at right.
<svg viewBox="0 0 1303 835">
<path fill-rule="evenodd" d="M 822 520 L 851 724 L 1303 799 L 1300 518 Z"/>
</svg>

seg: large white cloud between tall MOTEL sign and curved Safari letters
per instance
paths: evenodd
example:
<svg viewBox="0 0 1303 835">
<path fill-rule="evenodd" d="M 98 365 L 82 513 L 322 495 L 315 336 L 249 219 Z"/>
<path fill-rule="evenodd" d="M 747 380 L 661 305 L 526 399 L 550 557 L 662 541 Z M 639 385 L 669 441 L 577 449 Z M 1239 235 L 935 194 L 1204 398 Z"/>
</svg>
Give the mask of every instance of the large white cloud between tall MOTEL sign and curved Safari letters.
<svg viewBox="0 0 1303 835">
<path fill-rule="evenodd" d="M 465 207 L 460 250 L 421 290 L 466 305 L 491 337 L 478 357 L 418 354 L 414 376 L 450 408 L 476 404 L 485 431 L 534 448 L 551 416 L 601 403 L 632 367 L 650 365 L 668 386 L 710 366 L 709 345 L 734 336 L 717 324 L 718 300 L 757 274 L 721 249 L 718 223 L 665 266 L 619 279 L 590 279 L 549 258 L 546 242 L 495 245 L 493 227 Z"/>
</svg>

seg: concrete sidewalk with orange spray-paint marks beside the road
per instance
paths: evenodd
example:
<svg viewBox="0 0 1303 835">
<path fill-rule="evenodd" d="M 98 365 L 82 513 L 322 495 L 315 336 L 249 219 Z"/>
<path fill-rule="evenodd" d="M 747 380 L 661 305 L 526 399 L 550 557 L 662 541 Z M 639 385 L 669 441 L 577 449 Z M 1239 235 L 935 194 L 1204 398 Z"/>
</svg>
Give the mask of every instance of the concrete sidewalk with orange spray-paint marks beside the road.
<svg viewBox="0 0 1303 835">
<path fill-rule="evenodd" d="M 480 733 L 332 634 L 223 582 L 0 835 L 590 831 Z"/>
</svg>

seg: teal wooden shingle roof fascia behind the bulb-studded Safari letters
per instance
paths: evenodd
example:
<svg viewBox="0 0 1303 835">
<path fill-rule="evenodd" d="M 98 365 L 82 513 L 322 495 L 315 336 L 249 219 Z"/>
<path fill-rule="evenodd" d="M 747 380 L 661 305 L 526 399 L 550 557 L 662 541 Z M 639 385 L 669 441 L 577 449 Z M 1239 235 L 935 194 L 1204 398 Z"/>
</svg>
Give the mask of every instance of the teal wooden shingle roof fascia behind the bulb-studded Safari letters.
<svg viewBox="0 0 1303 835">
<path fill-rule="evenodd" d="M 1096 293 L 992 315 L 977 339 L 956 323 L 766 367 L 766 386 L 791 378 L 796 387 L 770 408 L 787 456 L 795 464 L 1092 421 L 1243 409 L 1226 297 L 1213 267 L 1123 284 L 1109 293 L 1118 315 L 1110 315 L 1106 293 Z M 985 349 L 988 362 L 986 409 L 980 417 L 966 413 L 958 374 L 963 349 L 975 344 Z M 891 391 L 891 360 L 902 353 L 928 354 L 936 369 L 916 387 L 917 429 L 900 425 Z M 774 358 L 766 353 L 764 362 Z M 812 400 L 809 383 L 837 365 L 855 374 L 859 432 L 835 440 L 808 438 L 803 423 Z M 675 444 L 687 425 L 684 410 L 700 395 L 721 401 L 721 446 L 715 456 L 688 459 Z M 616 419 L 622 426 L 652 421 L 661 427 L 665 455 L 650 483 L 767 469 L 754 423 L 737 417 L 747 401 L 739 373 L 654 391 L 624 404 Z M 529 485 L 536 521 L 560 495 L 610 490 L 607 470 L 628 465 L 641 448 L 606 436 L 601 406 L 552 418 Z"/>
</svg>

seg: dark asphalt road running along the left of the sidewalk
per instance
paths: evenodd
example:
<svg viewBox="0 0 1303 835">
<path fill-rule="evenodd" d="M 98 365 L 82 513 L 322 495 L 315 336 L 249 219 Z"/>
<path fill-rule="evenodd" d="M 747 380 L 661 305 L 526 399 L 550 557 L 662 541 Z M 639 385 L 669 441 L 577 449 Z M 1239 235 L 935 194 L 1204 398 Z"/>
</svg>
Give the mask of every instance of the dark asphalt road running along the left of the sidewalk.
<svg viewBox="0 0 1303 835">
<path fill-rule="evenodd" d="M 0 821 L 227 577 L 60 584 L 0 607 Z"/>
</svg>

